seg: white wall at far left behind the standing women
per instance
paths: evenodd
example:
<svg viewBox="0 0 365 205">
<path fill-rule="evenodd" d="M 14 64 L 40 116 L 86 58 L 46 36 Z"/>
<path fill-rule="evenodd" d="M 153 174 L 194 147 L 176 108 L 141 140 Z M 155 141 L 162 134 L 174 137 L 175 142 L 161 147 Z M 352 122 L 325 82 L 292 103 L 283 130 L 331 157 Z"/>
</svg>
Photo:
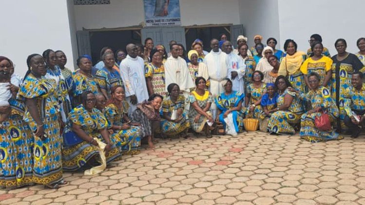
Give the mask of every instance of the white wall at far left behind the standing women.
<svg viewBox="0 0 365 205">
<path fill-rule="evenodd" d="M 7 20 L 2 21 L 0 53 L 16 64 L 16 73 L 23 76 L 28 55 L 46 49 L 64 51 L 69 56 L 66 66 L 73 68 L 67 1 L 6 0 L 1 2 L 1 17 Z"/>
</svg>

